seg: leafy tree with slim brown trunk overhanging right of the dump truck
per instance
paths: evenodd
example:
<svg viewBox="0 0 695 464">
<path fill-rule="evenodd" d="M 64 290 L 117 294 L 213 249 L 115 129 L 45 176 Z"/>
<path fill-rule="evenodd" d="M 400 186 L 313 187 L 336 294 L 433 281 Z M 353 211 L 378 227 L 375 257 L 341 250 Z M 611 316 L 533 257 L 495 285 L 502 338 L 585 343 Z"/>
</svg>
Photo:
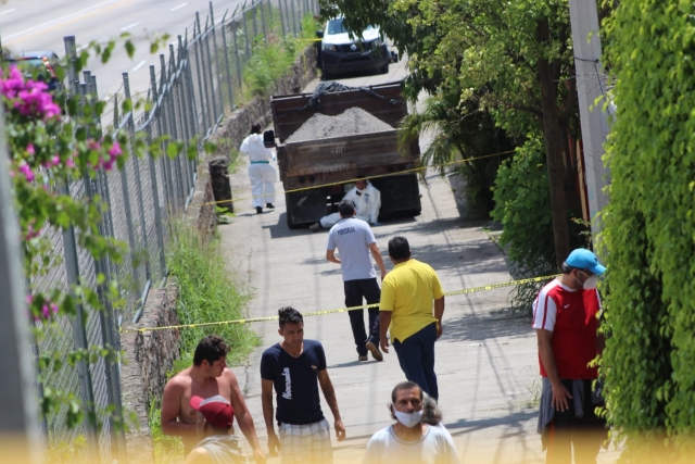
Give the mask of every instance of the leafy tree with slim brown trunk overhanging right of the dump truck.
<svg viewBox="0 0 695 464">
<path fill-rule="evenodd" d="M 513 137 L 543 134 L 555 261 L 569 254 L 568 205 L 579 211 L 570 147 L 579 118 L 567 0 L 321 0 L 351 30 L 378 24 L 410 75 L 406 95 L 443 90 L 490 112 Z M 569 191 L 569 195 L 567 193 Z"/>
</svg>

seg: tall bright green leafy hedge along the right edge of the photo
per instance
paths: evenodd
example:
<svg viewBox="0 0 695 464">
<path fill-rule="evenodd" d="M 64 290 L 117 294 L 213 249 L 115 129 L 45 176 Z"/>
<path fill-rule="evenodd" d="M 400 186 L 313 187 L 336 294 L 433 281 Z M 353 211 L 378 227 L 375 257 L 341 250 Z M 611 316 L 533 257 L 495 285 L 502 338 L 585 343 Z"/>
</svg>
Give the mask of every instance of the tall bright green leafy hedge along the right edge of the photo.
<svg viewBox="0 0 695 464">
<path fill-rule="evenodd" d="M 653 462 L 678 459 L 677 450 L 692 459 L 695 449 L 692 13 L 691 2 L 621 0 L 604 24 L 618 111 L 606 152 L 612 178 L 602 241 L 611 337 L 602 375 L 626 460 L 645 447 L 658 453 Z"/>
</svg>

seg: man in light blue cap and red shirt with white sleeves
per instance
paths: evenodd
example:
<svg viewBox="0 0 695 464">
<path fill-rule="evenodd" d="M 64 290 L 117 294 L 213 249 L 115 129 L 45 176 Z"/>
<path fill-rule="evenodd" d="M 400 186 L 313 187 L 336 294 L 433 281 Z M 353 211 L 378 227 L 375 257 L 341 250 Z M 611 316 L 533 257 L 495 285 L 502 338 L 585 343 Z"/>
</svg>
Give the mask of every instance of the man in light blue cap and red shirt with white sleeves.
<svg viewBox="0 0 695 464">
<path fill-rule="evenodd" d="M 583 248 L 563 263 L 563 275 L 547 284 L 533 302 L 533 328 L 543 377 L 538 431 L 547 463 L 595 463 L 606 438 L 606 421 L 595 414 L 604 402 L 592 388 L 603 351 L 597 334 L 601 299 L 598 276 L 606 267 Z"/>
</svg>

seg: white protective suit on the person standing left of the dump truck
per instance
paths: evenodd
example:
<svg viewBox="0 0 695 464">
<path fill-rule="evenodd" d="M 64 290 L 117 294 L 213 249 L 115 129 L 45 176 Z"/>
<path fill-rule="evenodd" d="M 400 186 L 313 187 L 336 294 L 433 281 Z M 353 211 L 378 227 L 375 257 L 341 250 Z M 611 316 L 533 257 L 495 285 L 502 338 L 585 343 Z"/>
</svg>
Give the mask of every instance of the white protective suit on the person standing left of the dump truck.
<svg viewBox="0 0 695 464">
<path fill-rule="evenodd" d="M 243 139 L 239 151 L 249 156 L 249 179 L 251 180 L 251 195 L 253 208 L 263 208 L 266 203 L 275 203 L 275 181 L 277 173 L 270 165 L 275 161 L 273 150 L 263 145 L 262 134 L 251 134 Z"/>
</svg>

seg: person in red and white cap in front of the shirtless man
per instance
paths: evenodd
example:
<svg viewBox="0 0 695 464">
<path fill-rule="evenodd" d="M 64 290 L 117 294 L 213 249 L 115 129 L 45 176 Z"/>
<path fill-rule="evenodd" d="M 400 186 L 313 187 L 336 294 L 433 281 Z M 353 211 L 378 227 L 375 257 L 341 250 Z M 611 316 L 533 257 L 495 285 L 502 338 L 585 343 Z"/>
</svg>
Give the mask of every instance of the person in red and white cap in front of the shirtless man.
<svg viewBox="0 0 695 464">
<path fill-rule="evenodd" d="M 201 441 L 186 457 L 186 464 L 239 464 L 247 463 L 247 456 L 239 448 L 239 437 L 230 435 L 235 410 L 219 394 L 203 400 L 192 397 L 190 406 L 198 411 L 195 424 Z"/>
</svg>

